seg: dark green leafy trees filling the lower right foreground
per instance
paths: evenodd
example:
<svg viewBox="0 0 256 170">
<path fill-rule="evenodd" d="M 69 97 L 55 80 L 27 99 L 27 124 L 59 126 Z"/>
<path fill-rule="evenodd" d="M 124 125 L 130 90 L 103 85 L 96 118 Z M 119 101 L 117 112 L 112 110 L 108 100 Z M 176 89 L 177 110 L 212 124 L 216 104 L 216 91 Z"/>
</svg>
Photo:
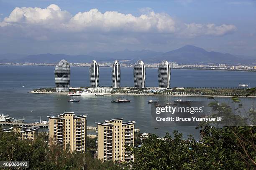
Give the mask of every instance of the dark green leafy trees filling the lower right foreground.
<svg viewBox="0 0 256 170">
<path fill-rule="evenodd" d="M 201 127 L 202 128 L 202 127 Z M 205 126 L 202 140 L 192 135 L 182 140 L 174 131 L 172 138 L 151 135 L 139 148 L 133 148 L 133 170 L 252 170 L 256 163 L 256 127 Z"/>
</svg>

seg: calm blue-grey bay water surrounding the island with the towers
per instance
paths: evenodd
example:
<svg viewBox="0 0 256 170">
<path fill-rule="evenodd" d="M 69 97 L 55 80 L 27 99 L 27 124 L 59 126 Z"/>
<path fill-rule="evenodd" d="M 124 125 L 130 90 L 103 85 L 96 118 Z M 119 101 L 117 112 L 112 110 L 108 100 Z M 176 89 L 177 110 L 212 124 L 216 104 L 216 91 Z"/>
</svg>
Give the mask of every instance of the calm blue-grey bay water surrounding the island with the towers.
<svg viewBox="0 0 256 170">
<path fill-rule="evenodd" d="M 100 67 L 100 86 L 111 85 L 111 67 Z M 158 86 L 157 69 L 146 69 L 146 86 Z M 256 72 L 180 70 L 171 72 L 172 87 L 238 87 L 239 83 L 256 86 Z M 89 68 L 71 67 L 71 86 L 89 86 Z M 121 68 L 121 85 L 133 86 L 133 68 Z M 24 86 L 24 87 L 23 87 Z M 159 128 L 151 117 L 151 106 L 148 100 L 207 100 L 207 97 L 172 97 L 172 96 L 128 96 L 131 103 L 111 103 L 118 96 L 77 97 L 80 103 L 70 103 L 66 95 L 30 94 L 29 91 L 39 87 L 54 87 L 53 66 L 0 66 L 0 113 L 14 118 L 23 118 L 26 122 L 47 120 L 47 115 L 58 115 L 63 112 L 75 112 L 77 115 L 88 114 L 89 126 L 112 118 L 135 120 L 136 128 L 141 132 L 156 133 L 163 136 L 166 132 L 179 130 L 187 135 L 199 138 L 194 127 Z M 75 97 L 74 97 L 75 98 Z M 231 102 L 228 97 L 217 98 L 222 102 Z M 243 98 L 243 102 L 252 102 Z M 34 112 L 30 112 L 33 110 Z"/>
</svg>

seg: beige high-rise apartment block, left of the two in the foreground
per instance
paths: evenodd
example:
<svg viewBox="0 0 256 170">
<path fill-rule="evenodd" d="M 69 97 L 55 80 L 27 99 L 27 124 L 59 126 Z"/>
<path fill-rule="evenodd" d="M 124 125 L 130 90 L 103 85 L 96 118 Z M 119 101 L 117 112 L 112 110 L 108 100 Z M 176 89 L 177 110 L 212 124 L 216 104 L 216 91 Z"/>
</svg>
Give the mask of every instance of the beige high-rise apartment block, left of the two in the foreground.
<svg viewBox="0 0 256 170">
<path fill-rule="evenodd" d="M 75 116 L 74 112 L 64 112 L 49 117 L 49 143 L 57 144 L 70 152 L 86 152 L 87 115 Z"/>
</svg>

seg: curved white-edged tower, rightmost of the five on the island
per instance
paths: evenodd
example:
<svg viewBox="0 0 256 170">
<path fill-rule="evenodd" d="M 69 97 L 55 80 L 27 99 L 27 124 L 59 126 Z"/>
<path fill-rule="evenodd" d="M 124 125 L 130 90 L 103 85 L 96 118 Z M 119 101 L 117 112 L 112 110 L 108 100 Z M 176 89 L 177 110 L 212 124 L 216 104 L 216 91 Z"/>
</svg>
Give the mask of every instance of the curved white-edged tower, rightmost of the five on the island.
<svg viewBox="0 0 256 170">
<path fill-rule="evenodd" d="M 158 67 L 158 84 L 161 88 L 168 88 L 170 85 L 171 67 L 168 61 L 164 60 Z"/>
</svg>

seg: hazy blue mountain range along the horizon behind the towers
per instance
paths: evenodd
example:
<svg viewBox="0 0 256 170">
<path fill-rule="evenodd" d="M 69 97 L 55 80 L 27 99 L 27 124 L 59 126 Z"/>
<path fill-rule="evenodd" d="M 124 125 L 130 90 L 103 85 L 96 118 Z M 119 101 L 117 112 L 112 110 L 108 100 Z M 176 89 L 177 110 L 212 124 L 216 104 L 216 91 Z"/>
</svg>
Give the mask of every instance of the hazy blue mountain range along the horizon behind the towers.
<svg viewBox="0 0 256 170">
<path fill-rule="evenodd" d="M 185 45 L 177 50 L 169 52 L 155 52 L 151 50 L 123 50 L 116 52 L 91 52 L 88 55 L 66 55 L 66 54 L 38 54 L 38 55 L 0 55 L 0 62 L 31 62 L 31 63 L 56 63 L 65 59 L 70 63 L 77 62 L 113 62 L 120 60 L 125 63 L 135 63 L 141 59 L 145 63 L 158 63 L 162 60 L 177 62 L 178 64 L 254 64 L 256 57 L 232 55 L 214 51 L 206 51 L 193 45 Z"/>
</svg>

